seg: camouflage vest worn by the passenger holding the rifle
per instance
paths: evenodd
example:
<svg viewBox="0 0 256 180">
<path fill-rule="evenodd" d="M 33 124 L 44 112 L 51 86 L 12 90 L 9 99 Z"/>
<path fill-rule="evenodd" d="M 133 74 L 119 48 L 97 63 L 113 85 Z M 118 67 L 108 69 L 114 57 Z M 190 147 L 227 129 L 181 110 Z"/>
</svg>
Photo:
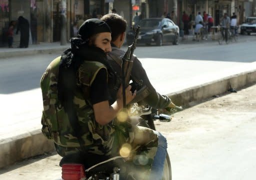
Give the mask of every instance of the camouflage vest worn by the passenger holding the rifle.
<svg viewBox="0 0 256 180">
<path fill-rule="evenodd" d="M 55 58 L 41 77 L 43 99 L 41 118 L 42 133 L 63 148 L 80 148 L 79 141 L 68 120 L 67 113 L 57 96 L 57 79 L 60 57 Z M 94 119 L 89 102 L 89 89 L 97 72 L 106 67 L 97 61 L 84 61 L 77 72 L 77 89 L 73 103 L 76 110 L 83 146 L 96 154 L 105 154 L 111 147 L 113 129 L 111 125 L 99 125 Z"/>
</svg>

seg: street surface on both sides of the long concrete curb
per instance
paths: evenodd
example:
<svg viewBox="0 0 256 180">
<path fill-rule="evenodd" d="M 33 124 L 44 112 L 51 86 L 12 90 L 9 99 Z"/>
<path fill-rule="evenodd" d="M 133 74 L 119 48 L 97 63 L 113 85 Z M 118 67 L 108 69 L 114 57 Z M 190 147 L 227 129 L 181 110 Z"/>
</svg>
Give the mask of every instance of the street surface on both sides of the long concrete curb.
<svg viewBox="0 0 256 180">
<path fill-rule="evenodd" d="M 255 38 L 251 36 L 228 45 L 212 41 L 177 46 L 138 46 L 135 54 L 156 90 L 167 94 L 208 79 L 218 79 L 219 74 L 223 75 L 230 69 L 249 66 L 255 62 Z M 0 127 L 8 127 L 0 129 L 0 139 L 11 137 L 10 132 L 18 135 L 31 128 L 40 128 L 42 100 L 39 81 L 49 62 L 58 55 L 0 59 L 0 114 L 4 120 L 0 121 Z M 157 123 L 157 129 L 166 136 L 169 144 L 173 180 L 254 178 L 255 89 L 252 86 L 176 113 L 168 125 Z M 33 120 L 32 123 L 27 119 Z M 26 123 L 29 123 L 27 129 Z M 57 179 L 60 177 L 59 159 L 55 155 L 24 161 L 1 170 L 0 179 Z"/>
</svg>

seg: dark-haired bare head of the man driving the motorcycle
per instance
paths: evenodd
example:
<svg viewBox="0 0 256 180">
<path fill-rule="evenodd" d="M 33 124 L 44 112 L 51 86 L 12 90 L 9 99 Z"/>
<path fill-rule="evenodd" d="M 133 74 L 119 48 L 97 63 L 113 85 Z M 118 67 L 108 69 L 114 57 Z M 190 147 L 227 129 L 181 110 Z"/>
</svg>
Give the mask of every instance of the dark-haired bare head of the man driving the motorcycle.
<svg viewBox="0 0 256 180">
<path fill-rule="evenodd" d="M 112 42 L 117 47 L 120 47 L 124 42 L 125 31 L 127 27 L 126 20 L 122 16 L 114 13 L 104 15 L 103 17 L 101 17 L 101 20 L 107 23 L 112 31 Z"/>
</svg>

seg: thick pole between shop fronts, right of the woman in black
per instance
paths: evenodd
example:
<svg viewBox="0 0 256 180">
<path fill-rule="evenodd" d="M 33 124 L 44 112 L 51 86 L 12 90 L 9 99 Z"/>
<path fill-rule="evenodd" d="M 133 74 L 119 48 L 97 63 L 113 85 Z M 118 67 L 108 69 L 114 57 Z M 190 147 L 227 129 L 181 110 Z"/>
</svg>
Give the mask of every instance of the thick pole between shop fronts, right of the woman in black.
<svg viewBox="0 0 256 180">
<path fill-rule="evenodd" d="M 59 3 L 60 9 L 60 45 L 66 45 L 66 0 Z"/>
</svg>

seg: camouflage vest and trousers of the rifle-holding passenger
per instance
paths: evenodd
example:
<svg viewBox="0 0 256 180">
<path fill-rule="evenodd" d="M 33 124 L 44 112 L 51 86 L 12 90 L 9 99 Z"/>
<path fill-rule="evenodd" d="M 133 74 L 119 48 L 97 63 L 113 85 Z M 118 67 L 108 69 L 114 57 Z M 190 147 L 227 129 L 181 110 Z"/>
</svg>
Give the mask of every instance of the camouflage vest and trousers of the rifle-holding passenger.
<svg viewBox="0 0 256 180">
<path fill-rule="evenodd" d="M 128 122 L 119 123 L 116 119 L 107 125 L 99 125 L 95 121 L 88 98 L 89 89 L 99 69 L 106 68 L 97 61 L 83 61 L 77 72 L 78 88 L 74 92 L 73 104 L 81 131 L 81 147 L 67 113 L 58 100 L 59 63 L 60 57 L 55 58 L 46 68 L 40 82 L 43 98 L 42 133 L 48 139 L 53 139 L 56 152 L 65 156 L 74 151 L 85 150 L 98 155 L 116 156 L 128 144 L 129 160 L 136 166 L 142 165 L 146 173 L 157 150 L 157 135 L 148 128 L 132 126 Z M 141 158 L 145 160 L 143 164 L 139 163 Z"/>
</svg>

